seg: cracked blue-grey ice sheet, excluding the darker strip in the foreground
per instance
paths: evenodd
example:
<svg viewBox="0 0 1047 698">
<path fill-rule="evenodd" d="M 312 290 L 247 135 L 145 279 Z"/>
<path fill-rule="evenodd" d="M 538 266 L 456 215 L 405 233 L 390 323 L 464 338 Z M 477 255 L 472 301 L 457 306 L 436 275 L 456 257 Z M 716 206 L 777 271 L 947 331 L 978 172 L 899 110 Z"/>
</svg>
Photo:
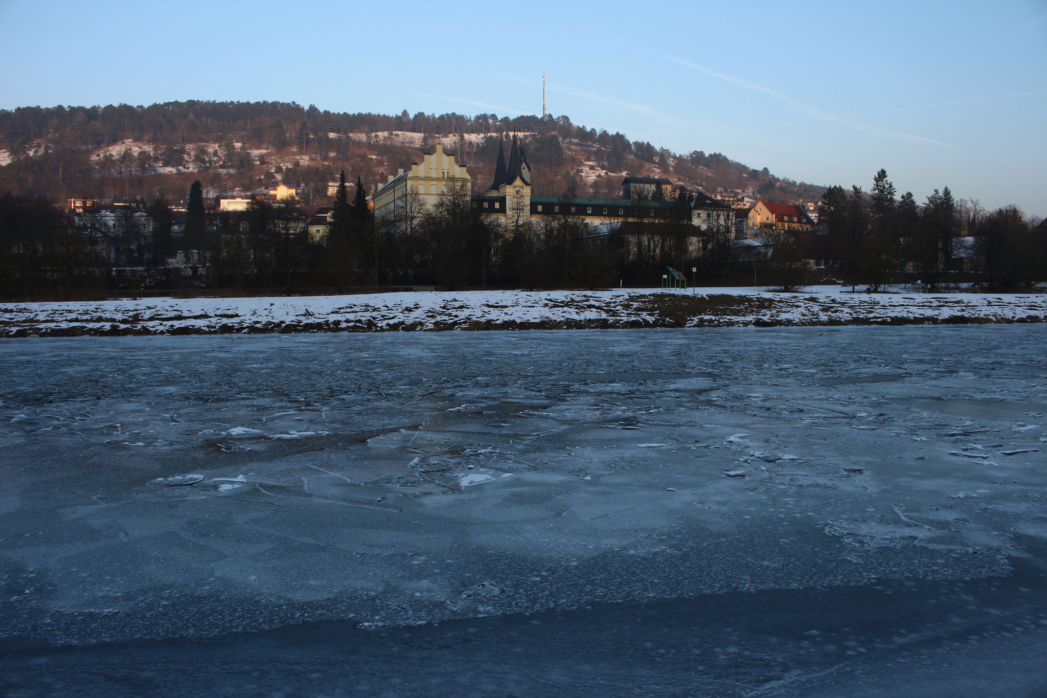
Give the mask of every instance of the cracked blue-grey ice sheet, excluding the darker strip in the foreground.
<svg viewBox="0 0 1047 698">
<path fill-rule="evenodd" d="M 1043 453 L 951 452 L 1041 446 L 1043 340 L 0 342 L 0 627 L 90 643 L 1006 577 L 1015 536 L 1047 536 Z"/>
</svg>

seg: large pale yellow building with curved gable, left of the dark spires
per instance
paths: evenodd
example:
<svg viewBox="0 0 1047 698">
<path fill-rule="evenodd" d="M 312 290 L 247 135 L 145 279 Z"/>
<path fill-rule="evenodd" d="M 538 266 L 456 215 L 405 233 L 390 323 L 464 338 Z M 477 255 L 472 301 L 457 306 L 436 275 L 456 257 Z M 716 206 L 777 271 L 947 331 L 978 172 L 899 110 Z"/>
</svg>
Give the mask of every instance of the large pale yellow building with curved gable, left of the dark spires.
<svg viewBox="0 0 1047 698">
<path fill-rule="evenodd" d="M 437 203 L 441 195 L 472 190 L 472 177 L 465 165 L 454 161 L 452 153 L 437 145 L 435 153 L 425 153 L 422 162 L 413 163 L 408 172 L 400 170 L 374 196 L 375 218 L 417 215 Z"/>
</svg>

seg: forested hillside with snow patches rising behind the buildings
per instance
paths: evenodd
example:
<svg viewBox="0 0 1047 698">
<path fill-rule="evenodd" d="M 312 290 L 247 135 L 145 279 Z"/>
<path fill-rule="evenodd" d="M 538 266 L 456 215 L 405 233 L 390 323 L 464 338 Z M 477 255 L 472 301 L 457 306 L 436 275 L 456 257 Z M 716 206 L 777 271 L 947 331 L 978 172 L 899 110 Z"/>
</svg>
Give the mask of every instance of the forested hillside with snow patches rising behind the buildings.
<svg viewBox="0 0 1047 698">
<path fill-rule="evenodd" d="M 419 160 L 437 142 L 491 178 L 497 135 L 526 134 L 535 193 L 614 196 L 625 176 L 667 177 L 714 193 L 748 190 L 763 200 L 817 201 L 825 187 L 775 177 L 719 153 L 686 154 L 577 126 L 566 116 L 494 114 L 394 116 L 321 111 L 280 102 L 171 102 L 133 107 L 0 110 L 0 190 L 66 198 L 179 201 L 199 179 L 211 196 L 250 193 L 273 181 L 304 185 L 320 203 L 344 170 L 369 187 Z"/>
</svg>

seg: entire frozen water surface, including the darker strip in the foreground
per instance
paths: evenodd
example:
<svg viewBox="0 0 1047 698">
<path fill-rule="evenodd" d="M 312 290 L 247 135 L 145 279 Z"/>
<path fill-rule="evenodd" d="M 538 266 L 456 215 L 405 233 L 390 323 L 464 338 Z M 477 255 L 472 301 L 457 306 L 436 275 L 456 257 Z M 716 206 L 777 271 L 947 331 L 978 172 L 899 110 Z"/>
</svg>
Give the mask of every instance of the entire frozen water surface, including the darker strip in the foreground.
<svg viewBox="0 0 1047 698">
<path fill-rule="evenodd" d="M 0 340 L 0 685 L 1045 695 L 1045 340 Z"/>
</svg>

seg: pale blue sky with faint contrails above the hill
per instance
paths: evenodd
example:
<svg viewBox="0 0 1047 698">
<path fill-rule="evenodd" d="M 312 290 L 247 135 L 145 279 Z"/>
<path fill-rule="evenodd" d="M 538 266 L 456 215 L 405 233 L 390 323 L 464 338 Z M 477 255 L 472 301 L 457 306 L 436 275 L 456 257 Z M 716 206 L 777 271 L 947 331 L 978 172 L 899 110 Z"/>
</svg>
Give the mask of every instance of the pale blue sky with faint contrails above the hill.
<svg viewBox="0 0 1047 698">
<path fill-rule="evenodd" d="M 0 0 L 0 108 L 553 114 L 818 184 L 1047 215 L 1047 2 Z"/>
</svg>

